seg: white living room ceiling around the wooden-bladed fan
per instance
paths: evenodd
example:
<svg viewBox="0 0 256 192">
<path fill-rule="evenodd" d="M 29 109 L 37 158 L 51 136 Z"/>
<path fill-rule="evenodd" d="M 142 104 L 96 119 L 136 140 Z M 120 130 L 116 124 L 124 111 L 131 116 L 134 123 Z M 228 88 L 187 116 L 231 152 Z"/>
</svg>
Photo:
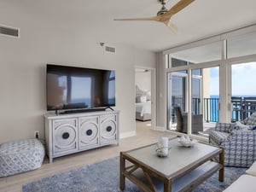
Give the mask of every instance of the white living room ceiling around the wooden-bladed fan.
<svg viewBox="0 0 256 192">
<path fill-rule="evenodd" d="M 160 51 L 201 38 L 256 24 L 255 0 L 195 0 L 172 17 L 177 34 L 154 21 L 114 21 L 148 17 L 160 9 L 157 0 L 9 0 L 15 6 L 76 23 L 94 31 L 102 42 Z M 169 0 L 170 9 L 178 0 Z"/>
</svg>

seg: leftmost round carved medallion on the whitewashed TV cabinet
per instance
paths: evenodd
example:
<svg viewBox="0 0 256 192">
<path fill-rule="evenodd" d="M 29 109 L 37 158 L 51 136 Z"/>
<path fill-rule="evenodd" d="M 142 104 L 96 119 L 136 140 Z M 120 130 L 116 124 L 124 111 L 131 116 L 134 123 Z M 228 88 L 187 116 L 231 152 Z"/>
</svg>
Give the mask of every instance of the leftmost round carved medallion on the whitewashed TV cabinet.
<svg viewBox="0 0 256 192">
<path fill-rule="evenodd" d="M 59 148 L 67 148 L 76 141 L 76 129 L 73 125 L 60 125 L 55 128 L 54 137 L 55 145 Z"/>
</svg>

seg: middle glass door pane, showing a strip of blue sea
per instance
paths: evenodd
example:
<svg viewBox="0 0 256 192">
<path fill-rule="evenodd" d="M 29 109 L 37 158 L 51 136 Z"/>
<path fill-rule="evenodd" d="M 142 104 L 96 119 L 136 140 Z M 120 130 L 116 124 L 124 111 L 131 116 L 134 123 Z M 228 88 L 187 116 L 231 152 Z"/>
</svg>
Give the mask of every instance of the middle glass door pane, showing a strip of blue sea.
<svg viewBox="0 0 256 192">
<path fill-rule="evenodd" d="M 219 67 L 191 70 L 191 133 L 207 136 L 218 122 Z M 206 131 L 206 132 L 204 132 Z"/>
</svg>

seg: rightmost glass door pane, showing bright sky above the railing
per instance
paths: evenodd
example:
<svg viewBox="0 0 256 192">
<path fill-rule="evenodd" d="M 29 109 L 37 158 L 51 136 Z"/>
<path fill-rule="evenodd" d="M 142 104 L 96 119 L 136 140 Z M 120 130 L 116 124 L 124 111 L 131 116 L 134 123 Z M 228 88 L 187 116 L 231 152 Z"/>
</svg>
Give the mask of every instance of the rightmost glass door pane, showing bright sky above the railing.
<svg viewBox="0 0 256 192">
<path fill-rule="evenodd" d="M 256 112 L 256 61 L 231 66 L 231 122 L 246 119 Z"/>
</svg>

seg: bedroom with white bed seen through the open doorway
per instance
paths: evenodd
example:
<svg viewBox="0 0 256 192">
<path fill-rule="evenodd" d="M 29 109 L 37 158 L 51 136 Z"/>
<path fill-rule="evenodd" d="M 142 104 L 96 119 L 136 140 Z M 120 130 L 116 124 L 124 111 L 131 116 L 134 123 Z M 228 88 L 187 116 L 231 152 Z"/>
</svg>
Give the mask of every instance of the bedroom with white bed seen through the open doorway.
<svg viewBox="0 0 256 192">
<path fill-rule="evenodd" d="M 147 130 L 152 129 L 152 76 L 154 71 L 144 67 L 136 67 L 135 69 L 135 116 L 136 129 Z"/>
</svg>

